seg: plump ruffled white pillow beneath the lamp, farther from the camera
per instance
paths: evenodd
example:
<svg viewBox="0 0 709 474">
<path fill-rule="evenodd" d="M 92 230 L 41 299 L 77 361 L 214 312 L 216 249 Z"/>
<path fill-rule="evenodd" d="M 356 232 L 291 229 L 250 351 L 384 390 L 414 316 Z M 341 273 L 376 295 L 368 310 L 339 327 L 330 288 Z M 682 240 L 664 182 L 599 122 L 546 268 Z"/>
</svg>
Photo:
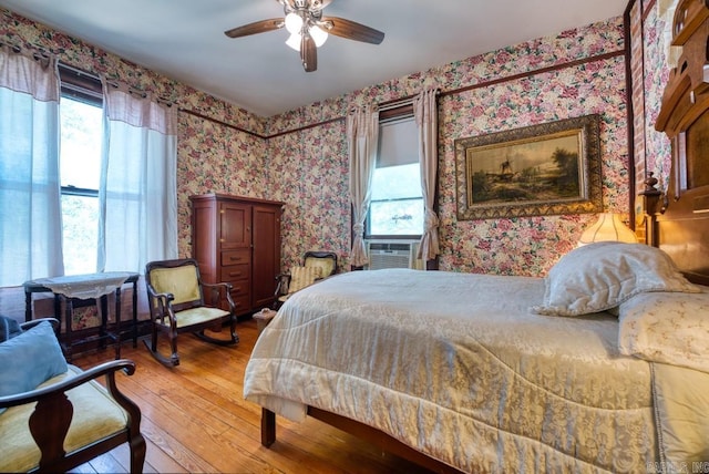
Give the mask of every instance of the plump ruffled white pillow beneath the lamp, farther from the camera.
<svg viewBox="0 0 709 474">
<path fill-rule="evenodd" d="M 569 251 L 552 267 L 544 282 L 544 302 L 532 310 L 552 316 L 605 311 L 646 291 L 700 291 L 662 250 L 616 241 Z"/>
</svg>

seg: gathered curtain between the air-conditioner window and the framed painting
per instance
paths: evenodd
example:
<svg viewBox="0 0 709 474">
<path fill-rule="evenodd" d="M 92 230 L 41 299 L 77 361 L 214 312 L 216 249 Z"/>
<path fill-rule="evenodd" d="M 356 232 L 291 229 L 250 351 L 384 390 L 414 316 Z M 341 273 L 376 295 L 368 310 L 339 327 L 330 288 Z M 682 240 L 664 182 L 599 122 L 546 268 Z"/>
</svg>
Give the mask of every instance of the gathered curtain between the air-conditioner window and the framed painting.
<svg viewBox="0 0 709 474">
<path fill-rule="evenodd" d="M 421 194 L 425 214 L 418 258 L 432 260 L 439 255 L 439 216 L 433 210 L 435 176 L 438 173 L 438 110 L 435 90 L 422 91 L 413 100 L 413 117 L 419 133 L 419 163 L 421 165 Z"/>
</svg>

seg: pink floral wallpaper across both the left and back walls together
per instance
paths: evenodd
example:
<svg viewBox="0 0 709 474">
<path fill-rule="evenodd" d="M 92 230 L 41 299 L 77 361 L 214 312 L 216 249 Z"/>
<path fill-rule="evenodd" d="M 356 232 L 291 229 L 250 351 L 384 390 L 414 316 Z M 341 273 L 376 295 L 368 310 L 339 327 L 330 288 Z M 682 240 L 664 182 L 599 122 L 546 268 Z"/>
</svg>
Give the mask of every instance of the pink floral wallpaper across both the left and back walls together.
<svg viewBox="0 0 709 474">
<path fill-rule="evenodd" d="M 456 138 L 598 113 L 604 207 L 627 213 L 627 110 L 623 19 L 616 18 L 373 84 L 273 117 L 259 117 L 92 45 L 0 9 L 0 41 L 44 48 L 71 65 L 169 97 L 178 131 L 179 254 L 191 255 L 192 194 L 286 203 L 282 267 L 331 249 L 349 268 L 350 205 L 345 113 L 349 105 L 438 87 L 440 268 L 544 275 L 575 246 L 593 215 L 458 221 Z M 216 118 L 213 122 L 187 111 Z"/>
</svg>

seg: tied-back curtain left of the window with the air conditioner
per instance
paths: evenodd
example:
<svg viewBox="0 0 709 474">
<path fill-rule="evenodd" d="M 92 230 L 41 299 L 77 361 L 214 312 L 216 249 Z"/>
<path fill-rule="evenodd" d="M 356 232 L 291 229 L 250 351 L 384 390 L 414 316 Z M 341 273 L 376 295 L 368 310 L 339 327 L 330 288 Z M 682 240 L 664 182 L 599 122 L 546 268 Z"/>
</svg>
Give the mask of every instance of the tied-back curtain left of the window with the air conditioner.
<svg viewBox="0 0 709 474">
<path fill-rule="evenodd" d="M 379 144 L 379 107 L 376 104 L 354 106 L 347 114 L 347 142 L 350 158 L 350 200 L 353 209 L 352 251 L 350 265 L 367 265 L 364 219 L 371 200 L 371 184 L 377 165 Z"/>
</svg>

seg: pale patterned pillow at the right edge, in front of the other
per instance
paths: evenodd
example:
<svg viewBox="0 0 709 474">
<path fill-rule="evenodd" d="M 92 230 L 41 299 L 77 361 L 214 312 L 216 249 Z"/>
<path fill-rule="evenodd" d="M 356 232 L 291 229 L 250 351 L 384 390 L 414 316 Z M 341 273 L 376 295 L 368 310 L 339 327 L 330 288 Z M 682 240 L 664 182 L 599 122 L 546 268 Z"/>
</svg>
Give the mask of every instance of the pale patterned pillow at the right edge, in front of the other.
<svg viewBox="0 0 709 474">
<path fill-rule="evenodd" d="M 620 353 L 709 372 L 709 292 L 637 295 L 619 319 Z"/>
</svg>

